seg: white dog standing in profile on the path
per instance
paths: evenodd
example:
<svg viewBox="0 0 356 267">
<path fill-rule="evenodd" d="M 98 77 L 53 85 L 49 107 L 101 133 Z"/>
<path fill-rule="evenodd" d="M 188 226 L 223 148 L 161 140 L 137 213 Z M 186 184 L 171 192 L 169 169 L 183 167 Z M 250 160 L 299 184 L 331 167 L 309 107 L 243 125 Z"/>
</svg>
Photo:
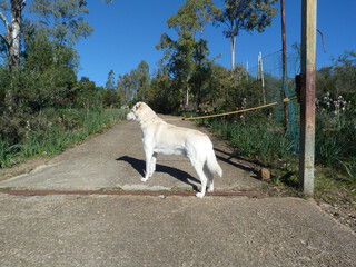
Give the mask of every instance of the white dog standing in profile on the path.
<svg viewBox="0 0 356 267">
<path fill-rule="evenodd" d="M 196 196 L 205 196 L 207 177 L 214 191 L 214 175 L 222 177 L 222 170 L 216 160 L 209 137 L 200 131 L 166 123 L 145 102 L 138 102 L 127 115 L 127 120 L 138 120 L 142 131 L 142 142 L 146 155 L 146 175 L 141 181 L 147 181 L 156 170 L 157 154 L 182 155 L 190 159 L 197 171 L 201 191 Z"/>
</svg>

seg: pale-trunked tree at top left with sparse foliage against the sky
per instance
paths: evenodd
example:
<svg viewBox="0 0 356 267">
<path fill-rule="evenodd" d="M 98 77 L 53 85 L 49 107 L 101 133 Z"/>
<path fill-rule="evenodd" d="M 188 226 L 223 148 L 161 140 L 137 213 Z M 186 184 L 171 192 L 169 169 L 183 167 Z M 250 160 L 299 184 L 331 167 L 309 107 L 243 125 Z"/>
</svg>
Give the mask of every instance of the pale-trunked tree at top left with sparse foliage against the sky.
<svg viewBox="0 0 356 267">
<path fill-rule="evenodd" d="M 6 33 L 0 33 L 0 38 L 7 48 L 10 69 L 20 66 L 22 12 L 26 6 L 27 0 L 0 1 L 0 19 L 6 29 Z M 32 0 L 29 11 L 36 14 L 36 22 L 32 22 L 38 28 L 46 29 L 53 41 L 72 46 L 92 32 L 92 28 L 82 17 L 89 13 L 86 6 L 85 0 Z M 7 20 L 7 11 L 11 13 L 11 23 Z"/>
</svg>

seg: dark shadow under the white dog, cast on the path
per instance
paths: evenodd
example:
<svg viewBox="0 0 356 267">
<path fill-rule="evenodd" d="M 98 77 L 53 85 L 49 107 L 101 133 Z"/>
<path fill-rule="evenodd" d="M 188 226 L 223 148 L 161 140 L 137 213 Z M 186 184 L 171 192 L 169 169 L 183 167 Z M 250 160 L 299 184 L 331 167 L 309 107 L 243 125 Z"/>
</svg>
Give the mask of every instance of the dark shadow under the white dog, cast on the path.
<svg viewBox="0 0 356 267">
<path fill-rule="evenodd" d="M 136 158 L 132 158 L 129 156 L 122 156 L 120 158 L 117 158 L 116 160 L 126 161 L 126 162 L 130 164 L 134 167 L 134 169 L 137 170 L 137 172 L 139 172 L 142 177 L 145 176 L 145 170 L 146 170 L 145 160 L 136 159 Z M 198 184 L 200 184 L 200 181 L 198 179 L 194 178 L 191 175 L 189 175 L 186 171 L 182 171 L 182 170 L 174 168 L 174 167 L 157 164 L 156 165 L 156 172 L 168 174 L 168 175 L 175 177 L 176 179 L 191 186 L 194 190 L 198 190 L 197 185 L 192 184 L 191 181 L 198 182 Z M 154 175 L 154 177 L 155 177 L 155 175 Z"/>
</svg>

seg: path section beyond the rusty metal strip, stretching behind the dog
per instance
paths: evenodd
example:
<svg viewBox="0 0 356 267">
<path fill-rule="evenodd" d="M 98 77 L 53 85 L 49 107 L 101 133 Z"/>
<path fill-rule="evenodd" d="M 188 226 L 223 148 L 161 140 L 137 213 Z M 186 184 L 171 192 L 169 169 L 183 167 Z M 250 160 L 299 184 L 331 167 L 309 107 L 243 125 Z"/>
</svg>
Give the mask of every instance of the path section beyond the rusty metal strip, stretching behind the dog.
<svg viewBox="0 0 356 267">
<path fill-rule="evenodd" d="M 172 118 L 162 116 L 162 118 Z M 172 123 L 196 128 L 190 121 Z M 204 129 L 200 129 L 202 130 Z M 208 134 L 208 132 L 207 132 Z M 259 188 L 254 169 L 247 162 L 233 158 L 224 142 L 212 138 L 218 161 L 224 170 L 216 178 L 216 190 Z M 137 122 L 122 121 L 107 132 L 55 157 L 29 174 L 0 182 L 12 189 L 147 189 L 197 190 L 200 186 L 189 160 L 179 156 L 159 155 L 157 171 L 147 182 L 144 176 L 145 155 L 141 131 Z"/>
</svg>

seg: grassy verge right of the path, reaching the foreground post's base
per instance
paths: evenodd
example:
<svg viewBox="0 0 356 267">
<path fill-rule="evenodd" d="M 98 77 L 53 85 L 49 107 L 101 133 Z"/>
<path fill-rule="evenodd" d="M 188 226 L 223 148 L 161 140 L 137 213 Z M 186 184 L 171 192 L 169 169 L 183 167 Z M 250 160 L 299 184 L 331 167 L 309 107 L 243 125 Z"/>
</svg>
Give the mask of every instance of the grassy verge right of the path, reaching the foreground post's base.
<svg viewBox="0 0 356 267">
<path fill-rule="evenodd" d="M 268 118 L 247 119 L 219 118 L 198 123 L 227 140 L 238 156 L 267 166 L 271 181 L 266 184 L 266 189 L 271 196 L 306 198 L 299 188 L 297 146 L 293 138 Z M 356 208 L 355 117 L 344 118 L 344 125 L 335 116 L 332 120 L 325 113 L 317 119 L 314 199 L 333 207 L 342 206 L 345 214 L 353 212 Z"/>
</svg>

